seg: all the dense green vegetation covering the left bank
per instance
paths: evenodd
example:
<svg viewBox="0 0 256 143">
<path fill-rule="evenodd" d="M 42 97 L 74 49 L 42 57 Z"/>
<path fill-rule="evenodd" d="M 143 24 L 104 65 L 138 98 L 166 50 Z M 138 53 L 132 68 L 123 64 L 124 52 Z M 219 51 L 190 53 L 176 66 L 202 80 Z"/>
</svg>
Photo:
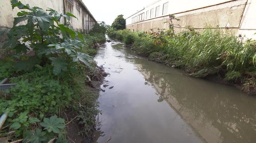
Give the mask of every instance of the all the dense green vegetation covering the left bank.
<svg viewBox="0 0 256 143">
<path fill-rule="evenodd" d="M 80 134 L 94 130 L 97 93 L 85 86 L 87 77 L 97 76 L 96 64 L 89 55 L 95 44 L 104 43 L 106 25 L 96 24 L 82 35 L 61 24 L 60 19 L 76 18 L 54 9 L 44 11 L 12 0 L 12 8 L 21 9 L 4 45 L 0 80 L 8 77 L 16 83 L 0 92 L 0 115 L 8 113 L 0 137 L 9 141 L 23 139 L 32 143 L 64 143 L 68 120 L 65 112 L 77 114 Z"/>
</svg>

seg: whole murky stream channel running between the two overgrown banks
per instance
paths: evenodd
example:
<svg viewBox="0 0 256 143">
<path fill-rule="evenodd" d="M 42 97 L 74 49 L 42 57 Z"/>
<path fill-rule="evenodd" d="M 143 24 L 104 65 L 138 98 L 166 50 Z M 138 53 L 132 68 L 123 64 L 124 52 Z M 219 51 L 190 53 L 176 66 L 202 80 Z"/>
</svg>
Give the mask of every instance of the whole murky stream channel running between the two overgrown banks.
<svg viewBox="0 0 256 143">
<path fill-rule="evenodd" d="M 110 136 L 109 143 L 256 142 L 256 98 L 188 77 L 115 41 L 95 60 L 110 73 L 100 92 L 105 133 L 97 142 Z"/>
</svg>

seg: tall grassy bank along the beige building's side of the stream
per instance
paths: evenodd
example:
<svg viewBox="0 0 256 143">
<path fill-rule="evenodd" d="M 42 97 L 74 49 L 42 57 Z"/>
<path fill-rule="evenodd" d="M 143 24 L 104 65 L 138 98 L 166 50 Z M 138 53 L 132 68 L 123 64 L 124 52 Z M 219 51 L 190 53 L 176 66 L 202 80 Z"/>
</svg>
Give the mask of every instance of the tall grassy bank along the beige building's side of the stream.
<svg viewBox="0 0 256 143">
<path fill-rule="evenodd" d="M 150 60 L 185 70 L 194 77 L 217 77 L 223 83 L 242 85 L 248 94 L 256 94 L 256 41 L 242 41 L 229 30 L 188 28 L 175 34 L 168 30 L 130 32 L 109 28 L 111 38 Z"/>
</svg>

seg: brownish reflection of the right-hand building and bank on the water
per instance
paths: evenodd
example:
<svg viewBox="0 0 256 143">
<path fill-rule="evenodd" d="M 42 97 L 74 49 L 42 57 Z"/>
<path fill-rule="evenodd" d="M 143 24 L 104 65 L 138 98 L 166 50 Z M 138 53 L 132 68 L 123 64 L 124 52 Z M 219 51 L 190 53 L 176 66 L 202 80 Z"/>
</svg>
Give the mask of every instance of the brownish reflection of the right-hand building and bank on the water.
<svg viewBox="0 0 256 143">
<path fill-rule="evenodd" d="M 132 54 L 129 50 L 125 50 Z M 208 143 L 256 141 L 256 99 L 233 87 L 188 77 L 180 70 L 134 58 L 164 100 Z"/>
</svg>

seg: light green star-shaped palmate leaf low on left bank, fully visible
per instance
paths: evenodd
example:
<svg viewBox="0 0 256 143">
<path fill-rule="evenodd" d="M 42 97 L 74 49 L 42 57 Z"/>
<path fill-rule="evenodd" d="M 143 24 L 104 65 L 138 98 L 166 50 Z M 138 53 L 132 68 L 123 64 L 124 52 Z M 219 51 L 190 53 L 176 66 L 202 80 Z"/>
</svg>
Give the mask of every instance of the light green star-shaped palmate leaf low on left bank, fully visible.
<svg viewBox="0 0 256 143">
<path fill-rule="evenodd" d="M 41 122 L 40 125 L 45 127 L 44 130 L 47 130 L 49 133 L 60 133 L 60 129 L 65 128 L 64 119 L 58 118 L 57 116 L 52 116 L 49 118 L 45 118 L 44 122 Z"/>
</svg>

